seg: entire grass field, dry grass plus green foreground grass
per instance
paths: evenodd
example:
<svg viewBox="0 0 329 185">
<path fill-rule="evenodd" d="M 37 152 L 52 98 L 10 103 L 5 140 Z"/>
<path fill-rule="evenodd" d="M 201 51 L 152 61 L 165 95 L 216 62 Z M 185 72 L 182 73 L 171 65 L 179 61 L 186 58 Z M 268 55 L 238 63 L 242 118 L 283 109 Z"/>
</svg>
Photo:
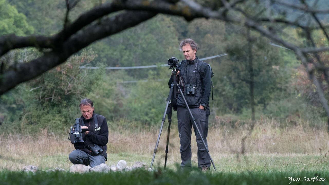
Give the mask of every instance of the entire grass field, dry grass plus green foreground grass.
<svg viewBox="0 0 329 185">
<path fill-rule="evenodd" d="M 243 179 L 249 179 L 246 184 L 260 184 L 260 182 L 277 181 L 289 184 L 293 178 L 300 181 L 292 181 L 291 183 L 310 183 L 311 181 L 303 181 L 306 178 L 327 178 L 329 177 L 329 151 L 328 151 L 328 134 L 325 128 L 311 128 L 303 126 L 297 122 L 294 126 L 281 127 L 280 123 L 271 120 L 259 120 L 255 124 L 255 128 L 251 135 L 246 139 L 245 155 L 241 151 L 241 138 L 248 132 L 248 125 L 239 122 L 225 121 L 216 118 L 217 123 L 209 128 L 208 145 L 210 154 L 214 160 L 217 171 L 212 168 L 210 173 L 200 174 L 202 177 L 194 180 L 199 182 L 199 178 L 207 180 L 207 183 L 201 184 L 217 184 L 216 179 L 221 179 L 221 184 L 234 184 L 230 179 L 235 179 L 237 184 L 243 184 Z M 132 166 L 137 161 L 142 161 L 148 166 L 151 164 L 153 150 L 159 133 L 159 128 L 150 128 L 148 130 L 139 130 L 132 132 L 127 129 L 109 130 L 108 143 L 108 166 L 116 164 L 119 160 L 125 160 L 128 166 Z M 165 143 L 167 128 L 164 127 L 158 152 L 155 156 L 154 167 L 161 170 L 164 166 Z M 196 142 L 195 136 L 192 134 L 192 165 L 197 166 Z M 55 167 L 63 168 L 66 171 L 72 165 L 68 160 L 68 154 L 74 149 L 73 145 L 67 141 L 67 135 L 55 135 L 48 133 L 47 130 L 40 130 L 37 137 L 26 135 L 6 135 L 2 133 L 0 136 L 0 179 L 10 179 L 15 176 L 23 179 L 25 175 L 20 171 L 24 166 L 37 166 L 40 170 L 46 171 Z M 118 178 L 135 178 L 134 173 L 145 175 L 145 183 L 147 179 L 157 179 L 155 184 L 165 184 L 164 179 L 167 175 L 171 178 L 178 178 L 178 173 L 184 173 L 180 176 L 187 177 L 191 174 L 199 174 L 197 170 L 192 172 L 181 172 L 177 170 L 180 163 L 179 153 L 179 137 L 177 126 L 172 123 L 169 141 L 169 153 L 167 159 L 166 171 L 154 172 L 125 172 L 123 174 L 113 173 L 111 175 L 103 174 L 106 179 Z M 163 174 L 158 175 L 157 173 Z M 18 175 L 20 174 L 20 175 Z M 117 176 L 115 176 L 115 174 Z M 47 173 L 34 175 L 33 179 L 37 181 L 44 175 L 49 178 L 65 178 L 69 173 Z M 88 174 L 91 175 L 91 174 Z M 88 176 L 87 175 L 87 176 Z M 95 174 L 102 175 L 102 174 Z M 94 175 L 94 176 L 95 176 Z M 200 176 L 196 175 L 196 176 Z M 12 177 L 11 177 L 12 176 Z M 74 179 L 79 175 L 74 175 Z M 92 175 L 91 175 L 92 176 Z M 287 177 L 287 179 L 285 178 Z M 289 177 L 291 179 L 289 180 Z M 26 178 L 32 178 L 27 177 Z M 242 178 L 242 179 L 241 179 Z M 250 179 L 256 178 L 255 181 Z M 258 179 L 258 180 L 257 180 Z M 261 179 L 261 180 L 259 180 Z M 329 180 L 329 178 L 328 178 Z M 289 182 L 288 182 L 289 181 Z M 6 182 L 3 181 L 3 182 Z M 14 181 L 7 181 L 6 184 L 14 184 Z M 77 179 L 77 182 L 80 182 Z M 82 184 L 84 181 L 81 180 Z M 90 181 L 89 181 L 90 182 Z M 133 184 L 143 184 L 140 183 Z M 169 184 L 180 184 L 179 181 L 173 181 Z M 188 181 L 185 181 L 188 183 Z M 194 182 L 194 181 L 193 181 Z M 312 183 L 321 184 L 327 181 L 316 181 Z M 1 184 L 1 182 L 0 182 Z M 47 184 L 47 183 L 44 183 Z M 118 184 L 124 184 L 120 182 Z M 266 184 L 266 183 L 262 183 Z M 280 183 L 279 183 L 280 184 Z"/>
</svg>

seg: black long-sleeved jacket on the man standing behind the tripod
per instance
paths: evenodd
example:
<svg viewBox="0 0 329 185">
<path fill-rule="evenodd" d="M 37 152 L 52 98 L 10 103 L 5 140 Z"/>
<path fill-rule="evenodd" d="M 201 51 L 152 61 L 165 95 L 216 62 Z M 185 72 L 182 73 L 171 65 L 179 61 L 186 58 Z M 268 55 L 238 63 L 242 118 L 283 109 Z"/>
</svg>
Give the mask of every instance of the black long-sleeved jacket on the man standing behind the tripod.
<svg viewBox="0 0 329 185">
<path fill-rule="evenodd" d="M 204 68 L 202 68 L 204 67 Z M 203 71 L 203 73 L 201 72 Z M 201 78 L 202 76 L 202 78 Z M 182 78 L 182 82 L 180 82 Z M 201 104 L 205 104 L 209 110 L 209 97 L 210 97 L 210 68 L 205 62 L 195 57 L 195 62 L 183 60 L 180 65 L 180 72 L 177 76 L 177 81 L 180 83 L 181 90 L 183 91 L 184 97 L 189 105 L 189 108 L 198 108 Z M 173 77 L 169 79 L 169 88 L 173 81 Z M 187 85 L 195 85 L 195 94 L 188 95 Z M 177 106 L 185 107 L 184 100 L 181 94 L 178 94 Z"/>
</svg>

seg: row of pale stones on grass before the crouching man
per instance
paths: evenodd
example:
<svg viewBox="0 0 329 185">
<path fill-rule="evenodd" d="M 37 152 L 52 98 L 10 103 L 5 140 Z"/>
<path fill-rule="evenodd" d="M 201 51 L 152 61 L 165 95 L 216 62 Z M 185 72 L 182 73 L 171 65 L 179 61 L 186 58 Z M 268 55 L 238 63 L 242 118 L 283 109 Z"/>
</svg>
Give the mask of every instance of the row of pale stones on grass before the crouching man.
<svg viewBox="0 0 329 185">
<path fill-rule="evenodd" d="M 120 160 L 116 165 L 112 165 L 111 167 L 107 166 L 106 164 L 100 164 L 98 166 L 95 166 L 93 168 L 90 168 L 90 166 L 86 165 L 72 165 L 70 167 L 69 172 L 73 173 L 86 173 L 86 172 L 116 172 L 116 171 L 131 171 L 133 169 L 142 168 L 145 170 L 150 170 L 145 163 L 143 162 L 136 162 L 132 167 L 127 166 L 127 162 L 125 160 Z M 26 166 L 22 170 L 23 172 L 37 172 L 38 167 L 35 166 Z M 65 172 L 64 169 L 61 168 L 55 168 L 55 169 L 49 169 L 46 172 Z"/>
</svg>

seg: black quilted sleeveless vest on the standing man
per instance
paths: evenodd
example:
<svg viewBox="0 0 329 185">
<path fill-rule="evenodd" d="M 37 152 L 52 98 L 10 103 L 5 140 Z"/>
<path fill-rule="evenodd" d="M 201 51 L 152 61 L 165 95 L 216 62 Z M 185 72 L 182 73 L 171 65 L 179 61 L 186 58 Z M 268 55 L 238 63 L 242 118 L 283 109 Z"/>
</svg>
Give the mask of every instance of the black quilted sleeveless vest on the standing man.
<svg viewBox="0 0 329 185">
<path fill-rule="evenodd" d="M 190 108 L 198 108 L 202 100 L 202 81 L 200 76 L 200 69 L 203 61 L 195 57 L 195 64 L 188 64 L 189 62 L 183 60 L 180 65 L 180 87 L 183 91 L 184 97 Z M 183 83 L 182 83 L 183 82 Z M 194 95 L 187 93 L 187 85 L 195 85 Z M 177 106 L 186 107 L 181 94 L 178 94 Z"/>
</svg>

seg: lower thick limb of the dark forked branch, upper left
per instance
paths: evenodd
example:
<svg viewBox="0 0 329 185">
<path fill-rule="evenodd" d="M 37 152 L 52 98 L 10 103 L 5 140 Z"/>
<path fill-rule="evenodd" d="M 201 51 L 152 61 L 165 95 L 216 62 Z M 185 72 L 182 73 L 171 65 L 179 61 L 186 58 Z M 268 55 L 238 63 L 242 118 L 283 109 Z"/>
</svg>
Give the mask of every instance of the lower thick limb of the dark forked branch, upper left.
<svg viewBox="0 0 329 185">
<path fill-rule="evenodd" d="M 61 48 L 44 53 L 43 56 L 29 63 L 23 63 L 14 69 L 4 72 L 0 76 L 0 95 L 9 91 L 17 84 L 37 77 L 52 67 L 65 62 L 68 57 L 90 43 L 135 26 L 155 15 L 156 13 L 127 11 L 104 19 L 101 24 L 90 25 L 64 42 Z"/>
</svg>

